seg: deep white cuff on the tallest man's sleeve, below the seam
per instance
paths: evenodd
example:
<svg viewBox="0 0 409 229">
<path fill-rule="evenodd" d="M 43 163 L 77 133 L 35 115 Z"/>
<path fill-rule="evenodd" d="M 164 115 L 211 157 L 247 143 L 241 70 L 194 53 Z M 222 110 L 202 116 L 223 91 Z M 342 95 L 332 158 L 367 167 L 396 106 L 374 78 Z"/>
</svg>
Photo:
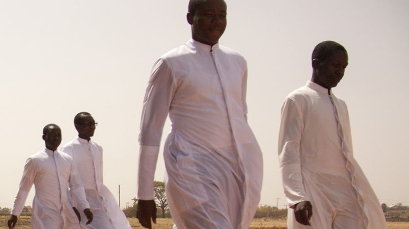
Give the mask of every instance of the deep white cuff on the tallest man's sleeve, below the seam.
<svg viewBox="0 0 409 229">
<path fill-rule="evenodd" d="M 137 199 L 153 199 L 153 180 L 156 163 L 159 156 L 159 146 L 141 145 L 139 148 L 139 166 L 137 182 Z"/>
</svg>

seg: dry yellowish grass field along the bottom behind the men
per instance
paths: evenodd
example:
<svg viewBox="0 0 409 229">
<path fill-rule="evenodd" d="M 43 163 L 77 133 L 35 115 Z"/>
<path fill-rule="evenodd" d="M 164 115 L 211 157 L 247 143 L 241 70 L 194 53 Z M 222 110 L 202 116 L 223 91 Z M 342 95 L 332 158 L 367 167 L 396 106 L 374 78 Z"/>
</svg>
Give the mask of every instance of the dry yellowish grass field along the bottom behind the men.
<svg viewBox="0 0 409 229">
<path fill-rule="evenodd" d="M 0 216 L 0 229 L 7 228 L 8 216 Z M 132 229 L 142 229 L 138 220 L 129 218 Z M 172 219 L 158 219 L 158 223 L 153 225 L 154 229 L 171 229 L 173 225 Z M 20 217 L 19 226 L 15 229 L 30 229 L 30 217 Z M 250 229 L 286 229 L 285 220 L 275 219 L 254 219 L 251 223 Z M 409 222 L 388 222 L 388 229 L 409 229 Z"/>
</svg>

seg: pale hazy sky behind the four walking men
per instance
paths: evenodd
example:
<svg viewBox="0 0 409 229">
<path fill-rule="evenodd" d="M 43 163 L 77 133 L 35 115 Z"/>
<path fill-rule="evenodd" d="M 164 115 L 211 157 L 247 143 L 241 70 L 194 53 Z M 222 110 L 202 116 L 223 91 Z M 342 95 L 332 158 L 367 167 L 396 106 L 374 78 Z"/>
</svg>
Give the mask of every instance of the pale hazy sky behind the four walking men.
<svg viewBox="0 0 409 229">
<path fill-rule="evenodd" d="M 187 0 L 0 1 L 0 206 L 11 207 L 25 160 L 56 123 L 63 141 L 90 112 L 104 182 L 121 206 L 136 192 L 138 132 L 150 69 L 190 38 Z M 409 1 L 227 0 L 220 40 L 248 62 L 249 124 L 263 151 L 260 204 L 286 204 L 277 157 L 281 104 L 311 77 L 311 52 L 343 44 L 334 93 L 350 111 L 354 156 L 382 203 L 409 205 Z M 166 123 L 164 136 L 170 131 Z M 161 156 L 155 174 L 163 180 Z M 34 187 L 26 202 L 32 205 Z"/>
</svg>

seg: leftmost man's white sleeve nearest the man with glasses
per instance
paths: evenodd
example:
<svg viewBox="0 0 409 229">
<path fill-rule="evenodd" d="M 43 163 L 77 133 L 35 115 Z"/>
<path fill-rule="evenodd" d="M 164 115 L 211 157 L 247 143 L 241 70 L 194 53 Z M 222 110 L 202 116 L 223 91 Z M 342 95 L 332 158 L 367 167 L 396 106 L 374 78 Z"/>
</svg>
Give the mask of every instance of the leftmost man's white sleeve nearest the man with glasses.
<svg viewBox="0 0 409 229">
<path fill-rule="evenodd" d="M 70 172 L 70 194 L 74 197 L 77 207 L 80 211 L 84 209 L 90 208 L 90 204 L 87 201 L 87 197 L 85 195 L 84 186 L 82 185 L 81 179 L 79 178 L 79 174 L 75 163 L 71 163 L 71 172 Z M 69 194 L 69 196 L 70 196 Z"/>
</svg>

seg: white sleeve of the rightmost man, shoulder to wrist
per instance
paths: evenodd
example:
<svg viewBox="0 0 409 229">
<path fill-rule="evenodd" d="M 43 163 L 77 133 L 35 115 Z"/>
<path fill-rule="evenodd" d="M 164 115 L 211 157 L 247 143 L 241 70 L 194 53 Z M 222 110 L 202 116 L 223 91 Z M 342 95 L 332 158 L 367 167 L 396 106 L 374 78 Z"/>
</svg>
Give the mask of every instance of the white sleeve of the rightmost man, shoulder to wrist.
<svg viewBox="0 0 409 229">
<path fill-rule="evenodd" d="M 289 207 L 309 200 L 303 185 L 299 157 L 303 128 L 301 110 L 294 98 L 289 97 L 281 108 L 279 130 L 279 167 Z"/>
</svg>

